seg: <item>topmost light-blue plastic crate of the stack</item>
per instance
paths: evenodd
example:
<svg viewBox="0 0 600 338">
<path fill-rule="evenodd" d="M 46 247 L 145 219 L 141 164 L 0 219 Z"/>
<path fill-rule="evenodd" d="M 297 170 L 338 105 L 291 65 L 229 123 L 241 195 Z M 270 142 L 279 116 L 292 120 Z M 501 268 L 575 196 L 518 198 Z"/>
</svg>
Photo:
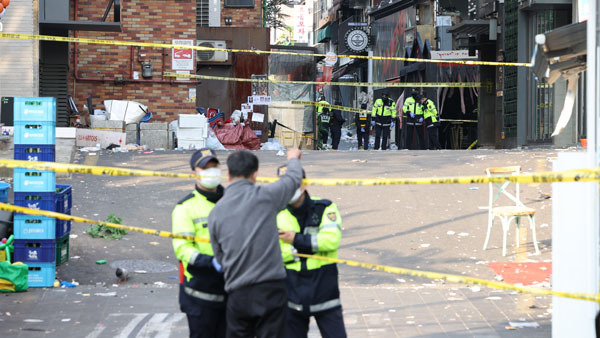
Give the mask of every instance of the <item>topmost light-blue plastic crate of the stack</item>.
<svg viewBox="0 0 600 338">
<path fill-rule="evenodd" d="M 15 97 L 14 121 L 56 122 L 56 98 Z"/>
</svg>

